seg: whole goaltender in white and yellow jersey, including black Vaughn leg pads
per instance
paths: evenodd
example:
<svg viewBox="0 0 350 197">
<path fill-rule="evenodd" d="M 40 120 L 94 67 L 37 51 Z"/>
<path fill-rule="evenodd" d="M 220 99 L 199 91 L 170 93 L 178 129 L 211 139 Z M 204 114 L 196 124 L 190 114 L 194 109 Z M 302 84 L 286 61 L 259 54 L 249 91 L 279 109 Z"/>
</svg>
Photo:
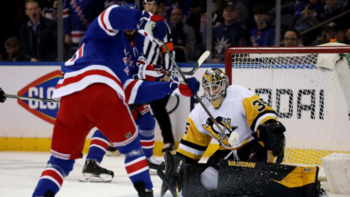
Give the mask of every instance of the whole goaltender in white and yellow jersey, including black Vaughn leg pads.
<svg viewBox="0 0 350 197">
<path fill-rule="evenodd" d="M 280 164 L 285 127 L 262 98 L 242 86 L 229 86 L 227 75 L 217 68 L 203 74 L 202 88 L 202 101 L 226 136 L 197 105 L 176 155 L 164 155 L 165 174 L 158 170 L 161 196 L 170 190 L 183 197 L 327 197 L 317 180 L 318 167 Z M 198 163 L 212 138 L 219 142 L 218 150 L 207 163 Z"/>
</svg>

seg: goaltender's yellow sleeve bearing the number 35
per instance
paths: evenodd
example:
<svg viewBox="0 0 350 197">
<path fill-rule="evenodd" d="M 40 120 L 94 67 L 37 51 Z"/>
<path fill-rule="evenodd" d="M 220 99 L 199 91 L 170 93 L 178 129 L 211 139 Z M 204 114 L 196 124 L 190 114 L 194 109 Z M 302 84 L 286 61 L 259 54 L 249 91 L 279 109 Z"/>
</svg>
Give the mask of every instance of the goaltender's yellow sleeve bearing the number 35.
<svg viewBox="0 0 350 197">
<path fill-rule="evenodd" d="M 252 131 L 255 131 L 257 125 L 260 125 L 267 120 L 274 119 L 277 121 L 275 110 L 256 94 L 252 97 L 243 99 L 243 107 L 248 125 Z M 259 118 L 262 118 L 262 120 L 259 120 L 258 122 Z"/>
</svg>

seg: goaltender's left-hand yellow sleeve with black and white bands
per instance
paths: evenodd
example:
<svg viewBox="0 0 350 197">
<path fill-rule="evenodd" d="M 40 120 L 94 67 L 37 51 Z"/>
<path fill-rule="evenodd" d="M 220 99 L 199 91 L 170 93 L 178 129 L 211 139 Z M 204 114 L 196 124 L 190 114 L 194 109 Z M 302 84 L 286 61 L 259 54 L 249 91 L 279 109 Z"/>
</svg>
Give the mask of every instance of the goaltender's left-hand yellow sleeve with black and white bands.
<svg viewBox="0 0 350 197">
<path fill-rule="evenodd" d="M 192 119 L 188 117 L 185 135 L 182 137 L 176 151 L 193 160 L 198 160 L 204 154 L 210 141 L 211 136 L 199 132 Z"/>
</svg>

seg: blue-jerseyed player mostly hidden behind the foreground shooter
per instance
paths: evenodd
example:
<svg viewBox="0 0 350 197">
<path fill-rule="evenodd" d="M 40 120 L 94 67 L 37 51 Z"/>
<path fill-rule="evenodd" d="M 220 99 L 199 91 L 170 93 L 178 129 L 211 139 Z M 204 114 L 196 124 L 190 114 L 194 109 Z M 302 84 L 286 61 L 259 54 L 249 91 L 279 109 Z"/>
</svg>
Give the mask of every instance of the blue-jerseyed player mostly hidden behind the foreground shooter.
<svg viewBox="0 0 350 197">
<path fill-rule="evenodd" d="M 124 3 L 123 7 L 138 9 L 135 3 Z M 124 63 L 128 66 L 128 76 L 147 81 L 155 81 L 157 78 L 163 77 L 163 74 L 154 71 L 161 70 L 162 66 L 148 65 L 146 57 L 142 54 L 144 36 L 137 33 L 136 30 L 125 30 L 124 34 L 125 47 L 128 54 L 124 59 Z M 151 115 L 150 107 L 146 104 L 132 104 L 129 105 L 129 108 L 136 125 L 138 125 L 140 143 L 150 170 L 157 170 L 157 168 L 164 170 L 165 162 L 152 157 L 155 143 L 154 129 L 156 121 Z M 82 171 L 83 176 L 80 179 L 81 181 L 109 182 L 113 179 L 114 172 L 100 166 L 108 148 L 113 148 L 108 145 L 109 140 L 99 130 L 96 130 L 91 137 L 88 155 Z"/>
</svg>

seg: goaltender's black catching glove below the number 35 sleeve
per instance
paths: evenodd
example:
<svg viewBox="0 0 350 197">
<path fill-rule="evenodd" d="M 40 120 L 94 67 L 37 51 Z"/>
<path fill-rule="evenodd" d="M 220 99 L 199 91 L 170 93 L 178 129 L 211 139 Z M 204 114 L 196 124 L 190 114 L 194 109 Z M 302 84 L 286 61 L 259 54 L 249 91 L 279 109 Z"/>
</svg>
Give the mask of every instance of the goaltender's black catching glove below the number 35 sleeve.
<svg viewBox="0 0 350 197">
<path fill-rule="evenodd" d="M 275 120 L 260 124 L 252 136 L 258 140 L 262 147 L 271 150 L 274 157 L 281 155 L 284 151 L 285 127 Z"/>
</svg>

